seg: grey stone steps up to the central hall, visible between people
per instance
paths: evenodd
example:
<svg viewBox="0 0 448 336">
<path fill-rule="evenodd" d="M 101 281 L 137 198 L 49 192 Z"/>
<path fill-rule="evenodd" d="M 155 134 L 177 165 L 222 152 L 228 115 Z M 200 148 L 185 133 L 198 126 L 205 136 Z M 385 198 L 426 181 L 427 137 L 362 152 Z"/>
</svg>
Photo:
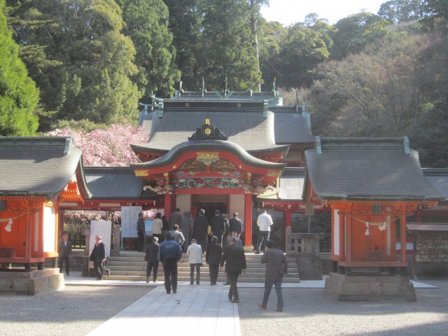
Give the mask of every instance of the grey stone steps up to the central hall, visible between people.
<svg viewBox="0 0 448 336">
<path fill-rule="evenodd" d="M 109 280 L 146 281 L 145 253 L 136 251 L 120 251 L 119 257 L 110 257 L 107 267 L 111 269 L 110 276 L 104 276 Z M 239 282 L 265 282 L 265 265 L 260 263 L 261 255 L 246 253 L 247 271 L 239 276 Z M 201 267 L 201 282 L 209 283 L 209 267 L 202 258 L 204 267 Z M 153 274 L 151 274 L 151 281 Z M 164 281 L 162 262 L 159 264 L 158 281 Z M 190 281 L 190 264 L 185 253 L 178 263 L 178 281 Z M 225 282 L 225 273 L 221 270 L 218 274 L 218 282 Z M 295 259 L 288 258 L 288 276 L 283 279 L 284 283 L 300 282 L 299 271 Z"/>
</svg>

